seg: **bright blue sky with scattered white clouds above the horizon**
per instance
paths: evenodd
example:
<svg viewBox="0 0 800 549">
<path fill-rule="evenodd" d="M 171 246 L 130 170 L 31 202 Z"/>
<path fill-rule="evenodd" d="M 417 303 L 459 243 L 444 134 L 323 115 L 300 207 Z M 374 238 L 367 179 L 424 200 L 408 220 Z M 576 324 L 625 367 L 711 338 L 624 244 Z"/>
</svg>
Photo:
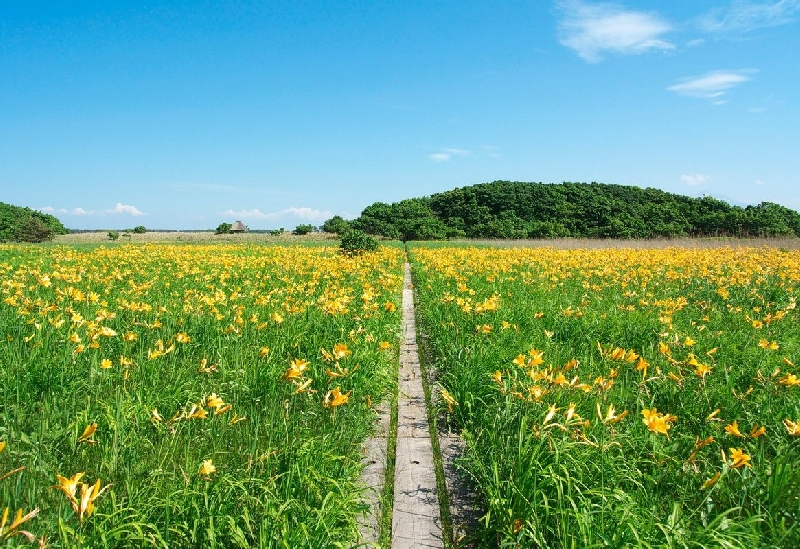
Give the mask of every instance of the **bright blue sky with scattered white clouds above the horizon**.
<svg viewBox="0 0 800 549">
<path fill-rule="evenodd" d="M 0 0 L 0 201 L 67 227 L 497 179 L 800 210 L 800 0 Z"/>
</svg>

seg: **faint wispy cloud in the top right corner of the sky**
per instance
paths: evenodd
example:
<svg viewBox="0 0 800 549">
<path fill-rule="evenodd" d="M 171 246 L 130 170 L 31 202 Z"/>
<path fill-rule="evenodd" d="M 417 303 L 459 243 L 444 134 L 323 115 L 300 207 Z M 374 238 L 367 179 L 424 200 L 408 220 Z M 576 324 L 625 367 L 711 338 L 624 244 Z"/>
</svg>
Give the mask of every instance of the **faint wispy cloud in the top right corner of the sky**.
<svg viewBox="0 0 800 549">
<path fill-rule="evenodd" d="M 800 15 L 800 0 L 779 2 L 738 1 L 714 8 L 698 18 L 700 30 L 714 34 L 742 33 L 785 25 Z"/>
</svg>

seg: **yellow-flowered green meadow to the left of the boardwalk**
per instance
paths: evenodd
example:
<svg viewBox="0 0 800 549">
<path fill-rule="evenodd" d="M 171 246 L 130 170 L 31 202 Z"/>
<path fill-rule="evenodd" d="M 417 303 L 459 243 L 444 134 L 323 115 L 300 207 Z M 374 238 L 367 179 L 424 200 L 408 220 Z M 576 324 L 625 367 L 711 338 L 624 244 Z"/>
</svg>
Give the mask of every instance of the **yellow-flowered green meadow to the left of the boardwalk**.
<svg viewBox="0 0 800 549">
<path fill-rule="evenodd" d="M 0 246 L 0 544 L 353 546 L 402 261 Z"/>
</svg>

